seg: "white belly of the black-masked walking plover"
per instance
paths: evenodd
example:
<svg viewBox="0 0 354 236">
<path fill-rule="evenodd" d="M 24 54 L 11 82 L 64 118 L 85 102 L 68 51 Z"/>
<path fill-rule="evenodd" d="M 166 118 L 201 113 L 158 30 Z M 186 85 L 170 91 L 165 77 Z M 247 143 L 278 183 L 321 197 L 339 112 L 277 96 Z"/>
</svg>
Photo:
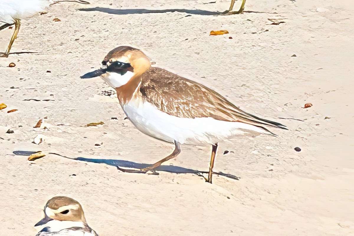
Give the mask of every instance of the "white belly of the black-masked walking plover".
<svg viewBox="0 0 354 236">
<path fill-rule="evenodd" d="M 205 145 L 245 133 L 263 133 L 256 126 L 215 120 L 213 118 L 181 118 L 160 111 L 149 102 L 134 101 L 122 105 L 129 120 L 138 130 L 166 142 Z"/>
</svg>

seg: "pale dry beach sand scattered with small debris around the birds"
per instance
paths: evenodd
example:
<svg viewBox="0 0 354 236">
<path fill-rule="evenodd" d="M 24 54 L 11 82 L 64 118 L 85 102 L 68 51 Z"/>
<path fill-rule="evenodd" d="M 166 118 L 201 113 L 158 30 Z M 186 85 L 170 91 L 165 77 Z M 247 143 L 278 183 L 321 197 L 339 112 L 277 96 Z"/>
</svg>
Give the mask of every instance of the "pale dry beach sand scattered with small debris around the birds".
<svg viewBox="0 0 354 236">
<path fill-rule="evenodd" d="M 11 52 L 36 53 L 0 58 L 0 103 L 7 105 L 0 111 L 0 235 L 35 235 L 33 225 L 55 195 L 78 200 L 101 236 L 354 233 L 354 4 L 247 0 L 245 10 L 253 12 L 230 16 L 102 12 L 223 11 L 229 5 L 208 2 L 63 2 L 22 20 Z M 94 7 L 101 11 L 79 10 Z M 268 19 L 284 23 L 272 25 Z M 229 34 L 209 36 L 211 30 Z M 1 52 L 12 32 L 0 32 Z M 14 155 L 44 151 L 154 163 L 172 151 L 171 144 L 140 133 L 124 119 L 115 95 L 103 95 L 112 89 L 102 79 L 79 78 L 98 69 L 119 45 L 140 48 L 155 66 L 203 83 L 290 130 L 220 144 L 215 171 L 240 179 L 215 175 L 213 184 L 192 173 L 122 173 L 53 154 L 35 161 Z M 16 66 L 7 67 L 10 63 Z M 306 103 L 313 106 L 302 108 Z M 12 109 L 18 111 L 7 113 Z M 41 128 L 33 128 L 39 119 Z M 85 126 L 100 121 L 101 127 Z M 39 134 L 45 140 L 32 143 Z M 182 153 L 165 165 L 207 171 L 210 151 L 182 145 Z"/>
</svg>

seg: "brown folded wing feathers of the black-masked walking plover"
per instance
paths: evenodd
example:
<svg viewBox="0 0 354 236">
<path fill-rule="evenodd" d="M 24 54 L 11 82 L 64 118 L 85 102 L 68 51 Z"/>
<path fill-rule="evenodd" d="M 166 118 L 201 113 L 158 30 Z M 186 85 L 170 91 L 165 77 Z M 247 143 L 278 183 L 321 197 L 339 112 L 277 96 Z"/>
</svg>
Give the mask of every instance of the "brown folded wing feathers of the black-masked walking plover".
<svg viewBox="0 0 354 236">
<path fill-rule="evenodd" d="M 252 124 L 268 132 L 262 125 L 286 129 L 284 125 L 242 111 L 227 99 L 202 84 L 152 67 L 142 75 L 143 99 L 172 116 L 212 117 L 229 122 Z M 272 132 L 270 132 L 272 133 Z"/>
</svg>

